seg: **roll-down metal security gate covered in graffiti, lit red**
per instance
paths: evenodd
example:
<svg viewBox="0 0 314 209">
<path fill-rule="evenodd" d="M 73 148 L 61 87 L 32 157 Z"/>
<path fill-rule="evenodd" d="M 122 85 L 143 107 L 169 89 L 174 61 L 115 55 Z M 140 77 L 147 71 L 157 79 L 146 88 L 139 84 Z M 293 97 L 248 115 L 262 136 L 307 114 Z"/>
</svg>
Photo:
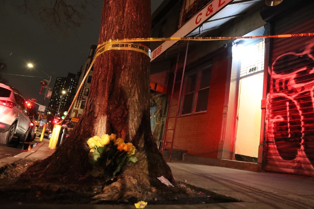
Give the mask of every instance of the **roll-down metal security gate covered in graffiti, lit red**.
<svg viewBox="0 0 314 209">
<path fill-rule="evenodd" d="M 311 11 L 275 20 L 274 34 L 313 32 Z M 314 38 L 274 39 L 270 60 L 264 169 L 314 177 Z"/>
</svg>

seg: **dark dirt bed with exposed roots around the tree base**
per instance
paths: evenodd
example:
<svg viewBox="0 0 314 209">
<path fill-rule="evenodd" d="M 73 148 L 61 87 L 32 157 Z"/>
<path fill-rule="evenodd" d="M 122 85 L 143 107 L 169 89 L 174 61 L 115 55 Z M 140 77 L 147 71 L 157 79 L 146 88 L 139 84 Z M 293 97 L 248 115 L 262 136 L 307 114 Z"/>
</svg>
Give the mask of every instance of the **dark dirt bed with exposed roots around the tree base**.
<svg viewBox="0 0 314 209">
<path fill-rule="evenodd" d="M 160 183 L 149 186 L 148 178 L 134 179 L 126 170 L 115 182 L 86 176 L 76 184 L 18 181 L 34 160 L 21 159 L 0 174 L 0 201 L 6 204 L 130 204 L 146 201 L 149 205 L 180 205 L 235 202 L 223 196 L 176 181 L 174 187 Z M 62 177 L 60 177 L 62 178 Z M 158 181 L 158 180 L 157 180 Z M 147 188 L 149 186 L 149 188 Z M 124 192 L 121 192 L 121 191 Z M 121 196 L 123 195 L 123 196 Z"/>
</svg>

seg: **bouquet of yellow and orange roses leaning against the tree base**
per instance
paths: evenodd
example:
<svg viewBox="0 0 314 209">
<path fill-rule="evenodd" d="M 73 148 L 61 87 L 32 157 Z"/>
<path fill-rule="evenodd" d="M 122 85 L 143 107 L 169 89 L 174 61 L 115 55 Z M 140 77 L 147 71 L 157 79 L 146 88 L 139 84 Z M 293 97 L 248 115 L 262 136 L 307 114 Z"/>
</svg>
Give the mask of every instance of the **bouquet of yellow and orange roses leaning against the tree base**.
<svg viewBox="0 0 314 209">
<path fill-rule="evenodd" d="M 136 163 L 135 147 L 131 142 L 124 143 L 122 138 L 116 139 L 115 134 L 102 134 L 89 138 L 87 141 L 89 162 L 93 165 L 92 176 L 104 176 L 112 180 L 119 175 L 127 163 Z"/>
</svg>

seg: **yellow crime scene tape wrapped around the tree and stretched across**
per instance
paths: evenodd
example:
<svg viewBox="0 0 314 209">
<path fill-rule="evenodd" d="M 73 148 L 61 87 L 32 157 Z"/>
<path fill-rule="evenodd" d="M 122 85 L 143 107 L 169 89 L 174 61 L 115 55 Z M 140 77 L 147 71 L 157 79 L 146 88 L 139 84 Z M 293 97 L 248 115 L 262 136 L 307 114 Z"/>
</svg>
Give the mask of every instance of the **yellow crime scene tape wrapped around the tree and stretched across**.
<svg viewBox="0 0 314 209">
<path fill-rule="evenodd" d="M 141 53 L 146 54 L 150 57 L 150 49 L 147 46 L 144 46 L 140 43 L 133 43 L 133 41 L 140 41 L 140 42 L 148 42 L 148 41 L 171 41 L 171 40 L 191 40 L 191 41 L 208 41 L 208 40 L 226 40 L 226 39 L 260 39 L 260 38 L 290 38 L 290 37 L 306 37 L 306 36 L 314 36 L 314 33 L 299 33 L 299 34 L 284 34 L 284 35 L 260 35 L 260 36 L 214 36 L 214 37 L 169 37 L 169 38 L 125 38 L 125 39 L 110 39 L 108 41 L 105 41 L 97 46 L 97 51 L 95 53 L 95 56 L 90 63 L 90 66 L 80 84 L 78 87 L 78 91 L 76 92 L 74 99 L 72 101 L 72 104 L 69 107 L 69 110 L 67 111 L 67 115 L 70 112 L 75 99 L 78 96 L 78 93 L 80 89 L 82 88 L 92 66 L 94 65 L 95 59 L 100 56 L 105 51 L 109 50 L 132 50 L 132 51 L 138 51 Z M 127 43 L 127 44 L 126 44 Z M 163 93 L 166 93 L 165 88 L 160 86 L 156 83 L 150 83 L 150 88 L 154 90 L 160 90 Z M 67 117 L 65 115 L 64 118 Z M 64 119 L 62 120 L 64 121 Z M 58 124 L 62 124 L 62 121 L 60 121 Z"/>
</svg>

